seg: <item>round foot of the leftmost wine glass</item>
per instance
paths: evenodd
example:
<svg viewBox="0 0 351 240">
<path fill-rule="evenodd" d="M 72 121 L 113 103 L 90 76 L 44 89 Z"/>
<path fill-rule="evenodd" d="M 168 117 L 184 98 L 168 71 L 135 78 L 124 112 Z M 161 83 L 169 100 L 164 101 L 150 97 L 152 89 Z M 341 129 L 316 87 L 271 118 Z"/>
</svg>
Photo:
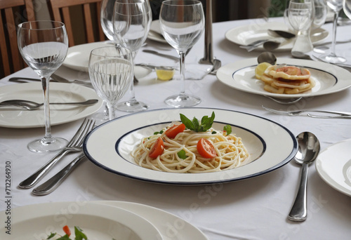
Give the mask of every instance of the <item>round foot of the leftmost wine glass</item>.
<svg viewBox="0 0 351 240">
<path fill-rule="evenodd" d="M 32 152 L 55 152 L 66 147 L 67 143 L 64 138 L 51 138 L 50 141 L 42 138 L 29 142 L 27 147 Z"/>
</svg>

